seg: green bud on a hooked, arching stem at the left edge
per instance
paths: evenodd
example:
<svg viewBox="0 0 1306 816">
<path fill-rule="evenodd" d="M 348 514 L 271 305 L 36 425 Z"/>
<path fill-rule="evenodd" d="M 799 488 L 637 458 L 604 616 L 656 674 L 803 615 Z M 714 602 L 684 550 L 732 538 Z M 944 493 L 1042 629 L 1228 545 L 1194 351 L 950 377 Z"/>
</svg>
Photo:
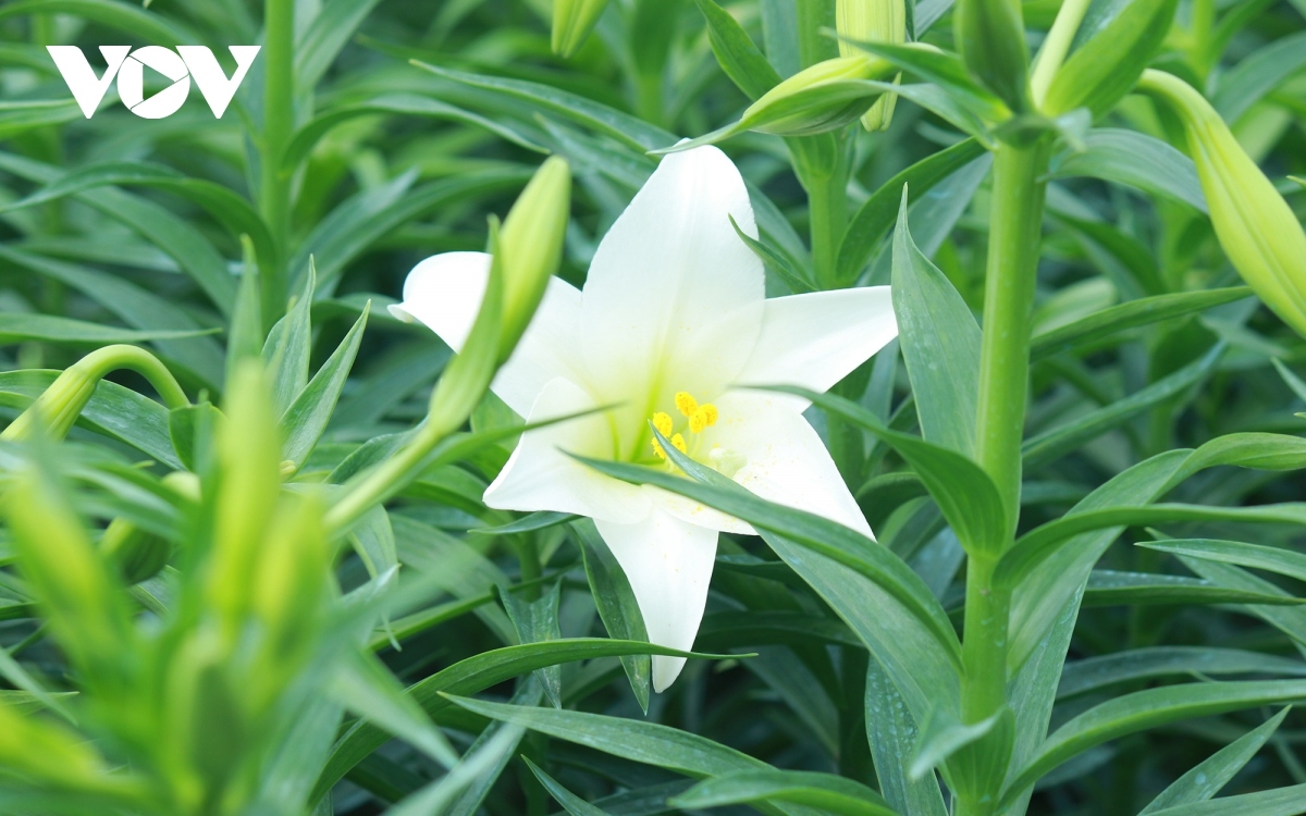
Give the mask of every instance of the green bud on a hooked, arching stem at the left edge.
<svg viewBox="0 0 1306 816">
<path fill-rule="evenodd" d="M 52 439 L 68 436 L 95 386 L 112 371 L 127 368 L 150 381 L 170 407 L 189 405 L 172 373 L 149 351 L 136 346 L 104 346 L 69 366 L 37 401 L 0 433 L 0 439 L 29 439 L 40 427 Z"/>
</svg>

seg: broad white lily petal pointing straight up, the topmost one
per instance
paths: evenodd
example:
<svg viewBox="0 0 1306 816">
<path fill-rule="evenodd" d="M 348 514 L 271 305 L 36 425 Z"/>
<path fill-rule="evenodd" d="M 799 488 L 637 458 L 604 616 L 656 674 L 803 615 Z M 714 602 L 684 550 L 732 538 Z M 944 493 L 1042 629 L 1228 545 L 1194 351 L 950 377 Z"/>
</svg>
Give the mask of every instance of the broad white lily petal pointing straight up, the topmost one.
<svg viewBox="0 0 1306 816">
<path fill-rule="evenodd" d="M 624 402 L 643 433 L 675 392 L 712 400 L 735 381 L 761 330 L 761 262 L 743 178 L 716 148 L 662 159 L 603 238 L 585 282 L 580 338 L 596 393 Z M 639 436 L 620 440 L 631 456 Z"/>
</svg>

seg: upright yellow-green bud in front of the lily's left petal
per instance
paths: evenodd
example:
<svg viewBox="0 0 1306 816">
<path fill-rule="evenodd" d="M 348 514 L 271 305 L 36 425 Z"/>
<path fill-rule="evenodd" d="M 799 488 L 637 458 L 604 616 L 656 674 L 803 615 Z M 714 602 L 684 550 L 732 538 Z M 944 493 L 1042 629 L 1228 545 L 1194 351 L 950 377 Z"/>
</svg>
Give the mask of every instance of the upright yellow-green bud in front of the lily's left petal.
<svg viewBox="0 0 1306 816">
<path fill-rule="evenodd" d="M 517 347 L 549 278 L 563 260 L 563 242 L 571 219 L 571 166 L 550 157 L 535 171 L 499 230 L 495 262 L 503 265 L 503 320 L 499 325 L 499 362 Z"/>
</svg>

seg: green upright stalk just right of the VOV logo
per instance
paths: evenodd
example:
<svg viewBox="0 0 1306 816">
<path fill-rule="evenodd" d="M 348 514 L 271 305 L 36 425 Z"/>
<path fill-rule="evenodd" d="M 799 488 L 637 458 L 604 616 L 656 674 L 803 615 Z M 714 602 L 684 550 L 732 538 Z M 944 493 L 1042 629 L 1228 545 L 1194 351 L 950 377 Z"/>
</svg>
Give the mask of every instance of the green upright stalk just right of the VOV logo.
<svg viewBox="0 0 1306 816">
<path fill-rule="evenodd" d="M 266 0 L 263 48 L 263 161 L 259 206 L 273 239 L 290 239 L 290 179 L 281 174 L 281 157 L 294 128 L 295 0 Z M 265 326 L 286 307 L 286 269 L 260 269 Z"/>
</svg>

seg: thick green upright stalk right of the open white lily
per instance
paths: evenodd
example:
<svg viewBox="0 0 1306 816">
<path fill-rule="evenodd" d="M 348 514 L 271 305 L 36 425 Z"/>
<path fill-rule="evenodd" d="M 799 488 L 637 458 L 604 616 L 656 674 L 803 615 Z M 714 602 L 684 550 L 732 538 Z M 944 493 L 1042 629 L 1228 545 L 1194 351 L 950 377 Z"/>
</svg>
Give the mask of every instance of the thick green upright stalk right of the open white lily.
<svg viewBox="0 0 1306 816">
<path fill-rule="evenodd" d="M 1020 503 L 1020 443 L 1029 385 L 1029 319 L 1043 210 L 1046 140 L 1003 145 L 994 162 L 989 269 L 976 458 L 993 478 L 1013 534 Z M 1008 542 L 1010 544 L 1010 542 Z M 1007 632 L 1011 591 L 994 586 L 995 557 L 972 555 L 966 565 L 961 718 L 982 722 L 1007 704 Z M 995 749 L 996 747 L 982 749 Z M 1002 779 L 978 796 L 959 796 L 959 816 L 989 816 Z"/>
</svg>

